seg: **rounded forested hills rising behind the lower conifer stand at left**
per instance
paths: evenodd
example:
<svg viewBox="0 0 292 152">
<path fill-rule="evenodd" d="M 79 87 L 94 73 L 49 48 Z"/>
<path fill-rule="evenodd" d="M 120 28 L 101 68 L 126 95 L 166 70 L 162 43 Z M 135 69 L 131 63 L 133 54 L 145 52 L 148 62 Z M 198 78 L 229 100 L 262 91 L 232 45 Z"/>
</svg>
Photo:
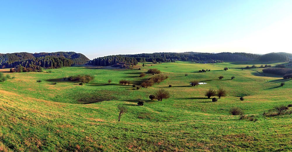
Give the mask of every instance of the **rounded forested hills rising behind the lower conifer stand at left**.
<svg viewBox="0 0 292 152">
<path fill-rule="evenodd" d="M 0 54 L 0 67 L 11 68 L 12 65 L 20 61 L 27 61 L 39 57 L 63 57 L 72 60 L 73 64 L 86 64 L 89 59 L 81 53 L 75 52 L 53 52 L 53 53 L 6 53 Z"/>
</svg>

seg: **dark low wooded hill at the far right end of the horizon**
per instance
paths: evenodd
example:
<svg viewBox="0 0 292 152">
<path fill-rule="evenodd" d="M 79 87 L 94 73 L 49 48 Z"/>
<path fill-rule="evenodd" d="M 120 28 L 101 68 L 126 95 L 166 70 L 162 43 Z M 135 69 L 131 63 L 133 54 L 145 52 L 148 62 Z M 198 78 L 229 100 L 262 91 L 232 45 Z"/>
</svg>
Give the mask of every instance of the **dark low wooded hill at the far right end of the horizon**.
<svg viewBox="0 0 292 152">
<path fill-rule="evenodd" d="M 259 60 L 260 61 L 290 61 L 289 57 L 292 57 L 291 53 L 284 53 L 284 52 L 279 52 L 279 53 L 268 53 L 265 55 L 260 56 Z"/>
</svg>

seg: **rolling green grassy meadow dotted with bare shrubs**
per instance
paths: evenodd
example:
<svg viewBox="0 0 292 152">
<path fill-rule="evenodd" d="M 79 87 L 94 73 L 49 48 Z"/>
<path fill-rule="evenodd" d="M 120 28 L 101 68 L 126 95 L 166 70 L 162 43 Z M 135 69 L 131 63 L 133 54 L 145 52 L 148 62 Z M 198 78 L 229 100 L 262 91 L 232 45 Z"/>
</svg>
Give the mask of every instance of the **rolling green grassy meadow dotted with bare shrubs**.
<svg viewBox="0 0 292 152">
<path fill-rule="evenodd" d="M 1 69 L 15 79 L 0 82 L 0 151 L 291 151 L 291 115 L 263 113 L 292 104 L 292 81 L 263 74 L 261 68 L 240 69 L 262 64 L 279 63 L 178 61 L 145 63 L 145 67 L 139 63 L 141 70 L 80 66 L 52 69 L 52 73 Z M 152 76 L 139 77 L 149 68 L 169 78 L 139 90 L 119 84 L 121 79 L 140 84 Z M 199 73 L 201 69 L 211 71 Z M 95 79 L 83 86 L 63 80 L 76 74 Z M 236 78 L 231 80 L 232 76 Z M 190 80 L 208 84 L 192 87 Z M 204 96 L 209 88 L 220 87 L 228 95 L 218 102 Z M 158 89 L 168 90 L 171 98 L 151 101 L 149 95 Z M 245 100 L 240 101 L 240 96 Z M 137 106 L 138 99 L 145 105 Z M 118 122 L 120 104 L 128 113 Z M 231 107 L 242 108 L 258 121 L 239 120 L 229 113 Z"/>
</svg>

